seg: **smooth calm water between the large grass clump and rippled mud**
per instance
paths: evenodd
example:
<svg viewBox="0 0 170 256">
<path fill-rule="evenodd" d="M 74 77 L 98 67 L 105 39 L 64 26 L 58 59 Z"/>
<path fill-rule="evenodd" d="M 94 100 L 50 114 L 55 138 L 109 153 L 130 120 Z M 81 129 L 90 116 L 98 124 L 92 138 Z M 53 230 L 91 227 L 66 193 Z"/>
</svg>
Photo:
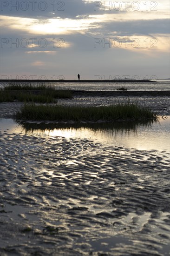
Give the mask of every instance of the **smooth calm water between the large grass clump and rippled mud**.
<svg viewBox="0 0 170 256">
<path fill-rule="evenodd" d="M 119 145 L 137 150 L 157 150 L 170 152 L 170 116 L 152 124 L 115 122 L 112 124 L 68 125 L 52 123 L 23 123 L 19 125 L 12 119 L 2 119 L 0 130 L 8 134 L 27 134 L 30 136 L 86 138 L 106 145 Z"/>
</svg>

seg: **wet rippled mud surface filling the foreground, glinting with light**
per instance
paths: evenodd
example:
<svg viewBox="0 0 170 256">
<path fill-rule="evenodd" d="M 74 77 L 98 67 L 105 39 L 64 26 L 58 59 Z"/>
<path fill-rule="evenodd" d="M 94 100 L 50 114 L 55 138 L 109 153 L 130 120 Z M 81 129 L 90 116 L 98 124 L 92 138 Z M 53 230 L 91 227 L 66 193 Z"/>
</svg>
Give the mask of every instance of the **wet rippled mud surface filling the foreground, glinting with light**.
<svg viewBox="0 0 170 256">
<path fill-rule="evenodd" d="M 2 256 L 169 255 L 168 142 L 144 150 L 121 130 L 106 141 L 2 124 Z"/>
</svg>

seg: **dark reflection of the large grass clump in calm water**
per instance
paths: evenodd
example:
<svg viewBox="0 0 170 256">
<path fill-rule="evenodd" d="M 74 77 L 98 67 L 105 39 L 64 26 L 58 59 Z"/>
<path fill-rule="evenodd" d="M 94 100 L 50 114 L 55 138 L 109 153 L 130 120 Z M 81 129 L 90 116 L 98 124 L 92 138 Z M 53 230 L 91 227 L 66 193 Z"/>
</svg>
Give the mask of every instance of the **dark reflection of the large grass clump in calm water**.
<svg viewBox="0 0 170 256">
<path fill-rule="evenodd" d="M 89 129 L 93 132 L 100 132 L 101 134 L 111 134 L 116 135 L 118 132 L 129 133 L 131 131 L 136 131 L 139 126 L 149 127 L 153 122 L 156 121 L 140 121 L 140 122 L 107 122 L 107 123 L 74 123 L 74 124 L 64 124 L 64 123 L 27 123 L 17 121 L 20 126 L 24 129 L 27 134 L 33 134 L 34 132 L 42 134 L 45 132 L 52 132 L 55 129 L 65 130 L 65 129 L 75 129 L 76 131 L 83 131 L 84 129 Z"/>
</svg>

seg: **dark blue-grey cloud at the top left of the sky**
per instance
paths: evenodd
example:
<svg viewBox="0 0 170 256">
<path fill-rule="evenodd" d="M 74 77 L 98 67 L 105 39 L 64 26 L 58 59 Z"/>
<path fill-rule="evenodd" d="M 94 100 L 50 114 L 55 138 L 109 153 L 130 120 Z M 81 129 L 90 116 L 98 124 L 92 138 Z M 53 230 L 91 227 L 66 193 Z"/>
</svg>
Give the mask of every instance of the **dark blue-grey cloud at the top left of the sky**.
<svg viewBox="0 0 170 256">
<path fill-rule="evenodd" d="M 34 19 L 74 18 L 99 12 L 94 11 L 92 2 L 85 3 L 83 0 L 1 0 L 0 5 L 1 15 Z"/>
</svg>

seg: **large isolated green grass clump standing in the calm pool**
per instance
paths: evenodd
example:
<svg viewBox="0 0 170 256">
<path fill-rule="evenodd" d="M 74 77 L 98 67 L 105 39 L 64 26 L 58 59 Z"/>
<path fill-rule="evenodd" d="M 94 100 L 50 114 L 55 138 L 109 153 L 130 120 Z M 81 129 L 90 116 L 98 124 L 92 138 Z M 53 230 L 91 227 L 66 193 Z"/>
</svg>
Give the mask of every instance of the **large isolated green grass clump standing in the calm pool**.
<svg viewBox="0 0 170 256">
<path fill-rule="evenodd" d="M 35 105 L 25 104 L 18 111 L 19 120 L 50 121 L 114 121 L 114 120 L 156 120 L 157 114 L 137 103 L 118 102 L 116 105 L 100 107 Z"/>
</svg>

